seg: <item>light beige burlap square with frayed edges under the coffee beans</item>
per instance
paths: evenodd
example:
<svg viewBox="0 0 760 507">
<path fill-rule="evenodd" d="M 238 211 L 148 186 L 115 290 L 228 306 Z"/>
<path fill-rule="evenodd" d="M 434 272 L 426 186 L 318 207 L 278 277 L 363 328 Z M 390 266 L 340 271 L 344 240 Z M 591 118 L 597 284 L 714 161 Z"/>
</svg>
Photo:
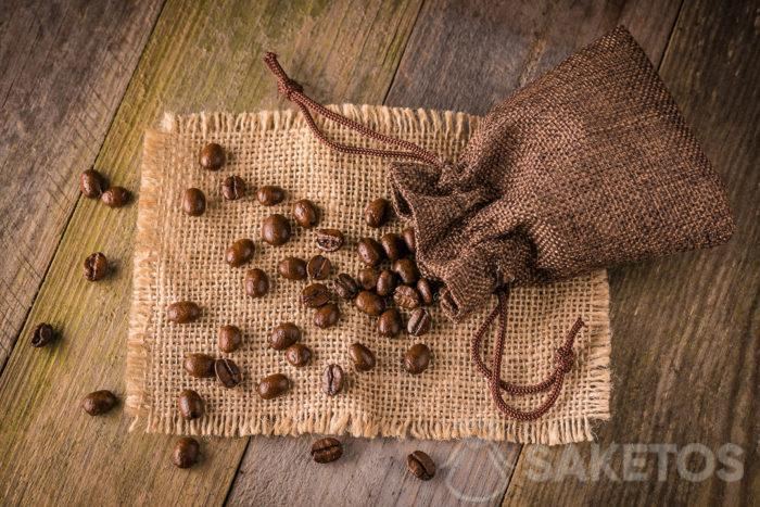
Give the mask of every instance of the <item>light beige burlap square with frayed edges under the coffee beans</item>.
<svg viewBox="0 0 760 507">
<path fill-rule="evenodd" d="M 370 128 L 413 141 L 449 160 L 467 143 L 478 118 L 460 113 L 411 111 L 381 106 L 343 105 L 342 114 Z M 317 119 L 332 139 L 365 145 L 355 134 Z M 203 170 L 197 159 L 207 142 L 228 152 L 218 172 Z M 495 304 L 464 322 L 447 320 L 432 309 L 433 330 L 423 337 L 382 338 L 373 318 L 351 303 L 341 303 L 341 320 L 332 329 L 312 324 L 313 310 L 299 303 L 306 281 L 289 281 L 277 275 L 278 262 L 289 255 L 308 259 L 319 253 L 315 230 L 293 227 L 282 246 L 261 240 L 261 224 L 273 213 L 291 216 L 292 203 L 311 199 L 321 211 L 321 227 L 341 229 L 346 244 L 328 254 L 334 277 L 355 275 L 358 238 L 379 238 L 400 231 L 397 219 L 382 229 L 370 229 L 362 219 L 367 202 L 388 197 L 387 161 L 334 153 L 308 131 L 293 111 L 253 114 L 167 115 L 161 130 L 145 134 L 142 182 L 135 254 L 134 300 L 127 357 L 127 409 L 132 428 L 148 432 L 244 435 L 328 433 L 356 436 L 414 436 L 458 439 L 480 436 L 523 443 L 562 444 L 591 440 L 592 421 L 609 418 L 610 334 L 608 284 L 604 271 L 544 287 L 518 288 L 509 300 L 508 340 L 503 377 L 534 383 L 552 370 L 554 351 L 578 316 L 587 324 L 575 342 L 578 359 L 566 377 L 552 410 L 536 421 L 506 419 L 491 401 L 487 383 L 470 362 L 470 340 Z M 244 199 L 221 198 L 221 182 L 241 176 L 249 189 L 278 185 L 288 199 L 276 206 L 261 205 L 249 191 Z M 201 217 L 181 212 L 185 189 L 197 187 L 207 198 Z M 224 261 L 235 240 L 251 238 L 256 253 L 248 266 L 232 268 Z M 261 267 L 269 274 L 270 293 L 259 300 L 245 296 L 243 277 Z M 190 300 L 203 308 L 199 321 L 170 324 L 166 307 Z M 270 330 L 293 321 L 303 330 L 302 342 L 314 351 L 305 368 L 294 368 L 282 352 L 267 346 Z M 239 326 L 243 347 L 220 354 L 220 326 Z M 494 340 L 496 327 L 486 341 Z M 378 360 L 369 372 L 351 366 L 349 346 L 363 342 Z M 419 376 L 401 367 L 404 352 L 414 343 L 427 343 L 433 352 L 431 367 Z M 244 380 L 236 389 L 213 379 L 193 379 L 182 368 L 186 354 L 227 355 L 241 368 Z M 484 353 L 490 360 L 491 346 Z M 337 363 L 349 373 L 347 389 L 334 397 L 325 395 L 320 379 L 326 365 Z M 257 381 L 282 372 L 293 382 L 286 396 L 264 401 Z M 206 415 L 194 421 L 179 417 L 176 400 L 183 389 L 198 391 Z M 523 409 L 535 407 L 541 395 L 508 397 Z"/>
</svg>

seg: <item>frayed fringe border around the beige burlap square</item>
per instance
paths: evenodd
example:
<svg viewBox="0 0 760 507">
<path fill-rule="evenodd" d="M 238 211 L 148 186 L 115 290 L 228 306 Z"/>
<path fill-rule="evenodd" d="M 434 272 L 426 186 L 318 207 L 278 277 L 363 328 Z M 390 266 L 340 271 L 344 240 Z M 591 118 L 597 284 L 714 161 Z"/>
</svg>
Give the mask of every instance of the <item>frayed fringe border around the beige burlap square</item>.
<svg viewBox="0 0 760 507">
<path fill-rule="evenodd" d="M 371 105 L 331 105 L 351 119 L 381 132 L 414 130 L 423 135 L 432 129 L 455 136 L 468 135 L 478 124 L 477 116 L 454 112 L 434 112 Z M 317 123 L 324 122 L 317 118 Z M 156 217 L 157 183 L 156 175 L 162 167 L 165 142 L 172 134 L 201 134 L 215 131 L 254 132 L 306 128 L 301 113 L 284 111 L 263 111 L 258 113 L 200 113 L 178 116 L 166 113 L 161 130 L 148 130 L 144 138 L 140 204 L 137 220 L 136 249 L 134 259 L 132 307 L 129 319 L 127 342 L 127 396 L 126 411 L 132 416 L 129 431 L 144 430 L 150 433 L 182 432 L 172 418 L 155 415 L 151 410 L 149 393 L 145 392 L 145 376 L 149 370 L 149 340 L 145 333 L 150 328 L 151 300 L 154 290 L 152 274 L 157 261 L 159 224 Z M 495 441 L 539 443 L 545 445 L 568 444 L 594 440 L 592 421 L 608 420 L 610 397 L 610 327 L 609 287 L 607 272 L 596 271 L 592 276 L 592 312 L 588 316 L 588 340 L 584 362 L 591 370 L 592 384 L 596 386 L 590 396 L 587 411 L 574 418 L 553 419 L 550 414 L 543 420 L 530 424 L 504 419 L 501 423 L 481 423 L 472 420 L 454 422 L 409 422 L 378 418 L 373 415 L 349 415 L 324 413 L 307 418 L 271 418 L 258 420 L 230 420 L 229 417 L 208 414 L 204 420 L 193 426 L 191 434 L 213 434 L 238 436 L 249 434 L 297 435 L 302 433 L 350 434 L 353 436 L 417 438 L 452 440 L 477 436 Z M 524 290 L 522 288 L 516 291 Z M 200 422 L 200 421 L 199 421 Z M 187 428 L 183 428 L 187 430 Z"/>
</svg>

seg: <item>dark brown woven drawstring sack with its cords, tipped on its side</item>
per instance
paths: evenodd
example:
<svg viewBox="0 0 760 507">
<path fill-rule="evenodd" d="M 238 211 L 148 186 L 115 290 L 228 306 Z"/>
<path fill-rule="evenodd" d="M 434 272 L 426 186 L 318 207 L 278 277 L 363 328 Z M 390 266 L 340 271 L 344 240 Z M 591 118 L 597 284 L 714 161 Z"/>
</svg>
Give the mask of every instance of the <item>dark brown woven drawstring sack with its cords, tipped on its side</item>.
<svg viewBox="0 0 760 507">
<path fill-rule="evenodd" d="M 443 283 L 454 320 L 498 304 L 472 338 L 472 360 L 507 417 L 533 420 L 557 400 L 574 360 L 579 318 L 555 369 L 532 385 L 501 378 L 507 299 L 518 284 L 547 283 L 622 263 L 713 246 L 734 231 L 725 190 L 642 48 L 618 27 L 492 109 L 454 164 L 376 132 L 312 100 L 267 53 L 278 91 L 314 135 L 341 153 L 391 163 L 396 214 L 415 228 L 422 272 Z M 321 132 L 316 113 L 389 148 L 351 147 Z M 498 319 L 489 369 L 480 347 Z M 504 393 L 546 392 L 519 410 Z"/>
</svg>

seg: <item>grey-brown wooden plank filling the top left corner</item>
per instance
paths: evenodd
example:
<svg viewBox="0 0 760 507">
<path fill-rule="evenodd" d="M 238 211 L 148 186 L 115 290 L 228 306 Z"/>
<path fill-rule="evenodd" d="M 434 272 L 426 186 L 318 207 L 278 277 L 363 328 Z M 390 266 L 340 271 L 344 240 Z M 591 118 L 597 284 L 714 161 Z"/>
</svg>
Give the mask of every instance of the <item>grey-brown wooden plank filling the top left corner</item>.
<svg viewBox="0 0 760 507">
<path fill-rule="evenodd" d="M 0 2 L 0 371 L 162 4 Z"/>
</svg>

